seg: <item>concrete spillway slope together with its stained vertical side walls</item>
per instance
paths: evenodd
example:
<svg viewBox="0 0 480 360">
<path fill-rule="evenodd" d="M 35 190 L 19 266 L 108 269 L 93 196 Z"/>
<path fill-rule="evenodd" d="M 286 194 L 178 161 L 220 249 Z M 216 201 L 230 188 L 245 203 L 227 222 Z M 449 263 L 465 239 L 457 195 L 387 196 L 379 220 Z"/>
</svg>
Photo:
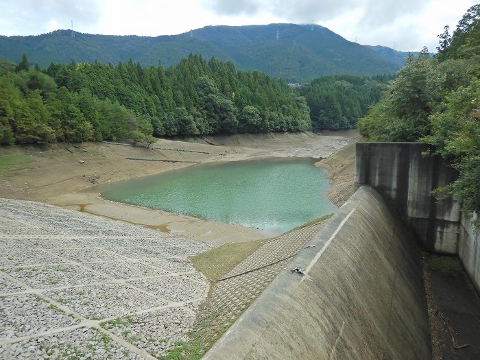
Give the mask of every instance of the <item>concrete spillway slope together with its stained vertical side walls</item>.
<svg viewBox="0 0 480 360">
<path fill-rule="evenodd" d="M 480 241 L 431 195 L 455 172 L 426 147 L 357 143 L 355 194 L 204 359 L 431 359 L 420 249 L 458 254 L 478 291 Z"/>
</svg>

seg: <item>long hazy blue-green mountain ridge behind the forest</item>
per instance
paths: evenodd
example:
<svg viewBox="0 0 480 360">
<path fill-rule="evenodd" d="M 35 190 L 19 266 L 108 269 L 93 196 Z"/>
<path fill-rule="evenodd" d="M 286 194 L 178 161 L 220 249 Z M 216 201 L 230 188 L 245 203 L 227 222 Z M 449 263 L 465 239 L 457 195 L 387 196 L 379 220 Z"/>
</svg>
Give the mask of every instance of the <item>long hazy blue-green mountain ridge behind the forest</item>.
<svg viewBox="0 0 480 360">
<path fill-rule="evenodd" d="M 164 66 L 177 64 L 190 53 L 208 59 L 231 60 L 237 69 L 257 69 L 288 82 L 321 75 L 394 73 L 405 60 L 387 47 L 352 43 L 320 25 L 207 26 L 173 36 L 111 36 L 57 30 L 38 36 L 0 36 L 0 59 L 19 62 L 26 53 L 32 62 L 128 61 Z M 389 49 L 392 50 L 392 49 Z M 394 50 L 392 50 L 394 51 Z"/>
</svg>

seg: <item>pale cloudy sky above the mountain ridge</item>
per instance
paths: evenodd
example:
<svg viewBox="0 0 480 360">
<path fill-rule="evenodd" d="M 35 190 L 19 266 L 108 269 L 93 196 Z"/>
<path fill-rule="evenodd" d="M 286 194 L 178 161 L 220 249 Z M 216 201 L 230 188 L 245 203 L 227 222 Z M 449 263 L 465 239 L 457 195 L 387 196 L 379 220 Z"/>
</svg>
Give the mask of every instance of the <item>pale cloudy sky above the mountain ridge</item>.
<svg viewBox="0 0 480 360">
<path fill-rule="evenodd" d="M 0 35 L 158 36 L 205 25 L 316 23 L 365 45 L 435 51 L 475 0 L 0 0 Z"/>
</svg>

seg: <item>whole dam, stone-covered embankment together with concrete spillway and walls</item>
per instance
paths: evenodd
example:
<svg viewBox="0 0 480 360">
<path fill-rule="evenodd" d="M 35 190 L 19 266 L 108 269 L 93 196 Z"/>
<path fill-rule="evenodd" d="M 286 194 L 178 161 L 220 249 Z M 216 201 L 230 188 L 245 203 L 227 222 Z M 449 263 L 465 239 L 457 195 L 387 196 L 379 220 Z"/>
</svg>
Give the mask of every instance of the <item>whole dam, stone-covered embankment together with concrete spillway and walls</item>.
<svg viewBox="0 0 480 360">
<path fill-rule="evenodd" d="M 205 359 L 431 359 L 422 249 L 457 254 L 477 289 L 480 251 L 475 215 L 430 201 L 455 174 L 424 146 L 357 144 L 350 200 L 223 278 L 193 268 L 213 251 L 195 239 L 2 199 L 0 357 L 156 359 L 211 306 L 228 330 Z"/>
</svg>

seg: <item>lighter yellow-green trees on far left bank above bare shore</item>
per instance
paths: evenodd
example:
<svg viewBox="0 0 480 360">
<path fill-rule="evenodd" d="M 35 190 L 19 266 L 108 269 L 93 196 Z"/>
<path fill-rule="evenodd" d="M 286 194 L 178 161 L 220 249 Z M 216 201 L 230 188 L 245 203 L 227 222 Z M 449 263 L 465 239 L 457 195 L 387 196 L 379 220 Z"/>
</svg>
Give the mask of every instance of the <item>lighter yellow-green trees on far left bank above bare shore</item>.
<svg viewBox="0 0 480 360">
<path fill-rule="evenodd" d="M 0 143 L 131 139 L 149 141 L 152 125 L 117 101 L 58 86 L 26 56 L 0 63 Z"/>
</svg>

